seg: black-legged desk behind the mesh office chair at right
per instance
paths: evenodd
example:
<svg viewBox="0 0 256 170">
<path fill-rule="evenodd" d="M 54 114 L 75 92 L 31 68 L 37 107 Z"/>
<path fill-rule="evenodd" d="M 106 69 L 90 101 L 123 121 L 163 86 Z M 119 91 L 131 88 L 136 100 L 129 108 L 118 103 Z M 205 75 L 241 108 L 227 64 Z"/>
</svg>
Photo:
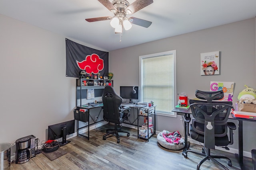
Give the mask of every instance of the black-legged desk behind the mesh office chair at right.
<svg viewBox="0 0 256 170">
<path fill-rule="evenodd" d="M 176 112 L 177 115 L 184 115 L 190 117 L 192 114 L 191 109 L 173 109 L 172 112 Z M 234 119 L 238 121 L 238 154 L 236 155 L 236 158 L 238 159 L 238 162 L 240 164 L 241 169 L 243 169 L 243 121 L 254 121 L 254 119 L 244 119 L 244 118 L 237 118 L 233 117 L 232 114 L 230 113 L 228 119 Z M 187 128 L 186 128 L 186 123 L 184 123 L 184 138 L 185 138 L 185 147 L 183 149 L 182 155 L 186 150 L 188 150 L 190 142 L 188 142 L 188 135 L 187 135 Z"/>
</svg>

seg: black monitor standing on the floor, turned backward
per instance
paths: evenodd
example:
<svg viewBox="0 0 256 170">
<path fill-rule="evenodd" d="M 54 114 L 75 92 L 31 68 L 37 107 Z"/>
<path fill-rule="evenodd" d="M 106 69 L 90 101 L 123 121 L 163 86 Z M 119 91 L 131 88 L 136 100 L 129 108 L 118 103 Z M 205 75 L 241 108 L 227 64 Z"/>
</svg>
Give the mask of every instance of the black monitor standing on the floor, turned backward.
<svg viewBox="0 0 256 170">
<path fill-rule="evenodd" d="M 48 140 L 56 140 L 62 137 L 60 146 L 70 143 L 66 140 L 66 136 L 72 133 L 75 133 L 75 120 L 48 126 Z"/>
</svg>

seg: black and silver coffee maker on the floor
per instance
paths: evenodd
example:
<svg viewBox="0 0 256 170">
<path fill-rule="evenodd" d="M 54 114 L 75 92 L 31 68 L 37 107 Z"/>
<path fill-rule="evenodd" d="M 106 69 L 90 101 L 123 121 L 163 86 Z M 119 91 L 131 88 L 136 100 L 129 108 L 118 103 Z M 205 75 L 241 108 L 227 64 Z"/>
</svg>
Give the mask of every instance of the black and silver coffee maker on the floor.
<svg viewBox="0 0 256 170">
<path fill-rule="evenodd" d="M 36 137 L 29 135 L 16 140 L 16 164 L 28 162 L 36 156 Z"/>
</svg>

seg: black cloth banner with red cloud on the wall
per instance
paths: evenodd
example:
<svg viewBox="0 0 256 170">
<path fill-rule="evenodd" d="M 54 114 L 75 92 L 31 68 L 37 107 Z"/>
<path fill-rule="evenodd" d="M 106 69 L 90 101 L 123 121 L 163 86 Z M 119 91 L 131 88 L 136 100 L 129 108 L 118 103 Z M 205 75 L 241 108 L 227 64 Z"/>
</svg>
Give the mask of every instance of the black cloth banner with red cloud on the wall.
<svg viewBox="0 0 256 170">
<path fill-rule="evenodd" d="M 66 76 L 79 77 L 80 70 L 92 76 L 108 76 L 108 52 L 92 49 L 66 39 Z"/>
</svg>

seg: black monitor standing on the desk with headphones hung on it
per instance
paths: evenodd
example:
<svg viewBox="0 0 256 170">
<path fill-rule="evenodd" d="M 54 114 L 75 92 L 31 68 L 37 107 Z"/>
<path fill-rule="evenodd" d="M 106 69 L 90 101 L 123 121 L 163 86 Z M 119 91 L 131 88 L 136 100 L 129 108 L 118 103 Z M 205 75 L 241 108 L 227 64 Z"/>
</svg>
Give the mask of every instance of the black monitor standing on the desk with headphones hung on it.
<svg viewBox="0 0 256 170">
<path fill-rule="evenodd" d="M 139 100 L 139 87 L 120 86 L 120 97 L 123 99 L 129 99 L 130 103 L 132 103 L 132 99 Z"/>
</svg>

